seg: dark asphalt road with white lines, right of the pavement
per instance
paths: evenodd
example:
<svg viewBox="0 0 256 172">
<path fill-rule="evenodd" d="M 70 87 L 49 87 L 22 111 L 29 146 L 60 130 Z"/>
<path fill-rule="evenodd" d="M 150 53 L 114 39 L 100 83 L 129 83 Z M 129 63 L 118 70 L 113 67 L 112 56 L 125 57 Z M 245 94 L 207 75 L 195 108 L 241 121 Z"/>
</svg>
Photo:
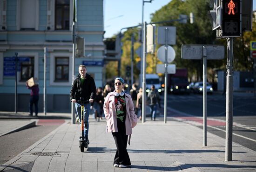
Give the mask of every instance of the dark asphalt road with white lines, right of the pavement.
<svg viewBox="0 0 256 172">
<path fill-rule="evenodd" d="M 163 99 L 162 99 L 163 100 Z M 163 103 L 163 101 L 162 101 Z M 197 116 L 196 118 L 185 118 L 185 121 L 197 125 L 198 117 L 203 116 L 203 96 L 199 94 L 190 95 L 168 95 L 168 107 Z M 253 93 L 234 94 L 233 109 L 233 141 L 256 151 L 256 98 Z M 226 118 L 226 96 L 213 94 L 207 96 L 207 118 L 213 119 L 208 125 L 207 131 L 225 138 Z M 168 113 L 172 116 L 171 113 Z M 181 117 L 179 117 L 180 119 Z M 219 121 L 219 122 L 216 122 Z M 215 121 L 215 122 L 214 122 Z"/>
</svg>

